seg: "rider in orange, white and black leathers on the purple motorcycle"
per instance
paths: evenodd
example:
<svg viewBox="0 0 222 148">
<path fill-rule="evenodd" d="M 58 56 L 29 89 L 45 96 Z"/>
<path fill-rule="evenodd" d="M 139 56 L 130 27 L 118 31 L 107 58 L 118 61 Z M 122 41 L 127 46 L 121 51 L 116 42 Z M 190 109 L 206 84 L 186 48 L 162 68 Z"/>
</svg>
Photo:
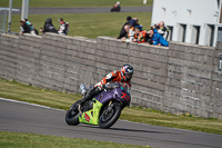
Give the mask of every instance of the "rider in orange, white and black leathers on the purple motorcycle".
<svg viewBox="0 0 222 148">
<path fill-rule="evenodd" d="M 123 65 L 120 71 L 114 70 L 108 73 L 100 82 L 95 83 L 94 88 L 79 100 L 78 103 L 83 105 L 85 101 L 91 100 L 94 96 L 101 93 L 108 82 L 125 82 L 131 87 L 132 75 L 133 68 L 130 65 Z"/>
</svg>

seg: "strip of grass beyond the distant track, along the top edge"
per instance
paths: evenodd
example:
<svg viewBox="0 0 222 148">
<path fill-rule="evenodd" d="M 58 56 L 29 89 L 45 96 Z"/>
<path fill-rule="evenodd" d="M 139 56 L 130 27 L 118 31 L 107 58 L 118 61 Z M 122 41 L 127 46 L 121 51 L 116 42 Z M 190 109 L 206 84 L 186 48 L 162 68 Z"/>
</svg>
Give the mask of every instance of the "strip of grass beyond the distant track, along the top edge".
<svg viewBox="0 0 222 148">
<path fill-rule="evenodd" d="M 61 8 L 61 7 L 112 7 L 118 0 L 30 0 L 29 7 Z M 121 7 L 144 6 L 143 0 L 119 0 Z M 145 6 L 152 6 L 148 0 Z M 20 8 L 22 0 L 13 0 L 13 7 Z M 0 7 L 9 7 L 9 0 L 0 0 Z"/>
</svg>

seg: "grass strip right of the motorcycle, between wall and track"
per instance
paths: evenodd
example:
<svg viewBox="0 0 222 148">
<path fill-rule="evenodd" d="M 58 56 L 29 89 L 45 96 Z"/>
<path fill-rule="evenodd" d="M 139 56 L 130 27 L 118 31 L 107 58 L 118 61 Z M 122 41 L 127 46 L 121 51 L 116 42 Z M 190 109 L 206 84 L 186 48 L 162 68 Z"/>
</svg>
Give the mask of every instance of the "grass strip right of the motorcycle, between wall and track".
<svg viewBox="0 0 222 148">
<path fill-rule="evenodd" d="M 222 135 L 222 120 L 204 119 L 190 114 L 176 116 L 158 110 L 132 107 L 122 111 L 121 119 L 134 122 L 150 124 L 154 126 Z"/>
</svg>

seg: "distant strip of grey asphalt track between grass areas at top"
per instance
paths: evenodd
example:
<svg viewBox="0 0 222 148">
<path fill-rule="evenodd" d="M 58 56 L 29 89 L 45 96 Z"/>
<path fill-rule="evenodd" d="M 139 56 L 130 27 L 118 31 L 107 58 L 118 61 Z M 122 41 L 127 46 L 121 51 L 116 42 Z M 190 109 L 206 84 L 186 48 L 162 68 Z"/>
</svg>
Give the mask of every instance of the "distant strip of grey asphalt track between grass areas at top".
<svg viewBox="0 0 222 148">
<path fill-rule="evenodd" d="M 20 9 L 20 8 L 19 8 Z M 29 8 L 29 14 L 44 13 L 105 13 L 110 12 L 111 7 L 89 7 L 89 8 Z M 121 12 L 151 12 L 152 7 L 122 7 Z M 13 12 L 20 14 L 19 12 Z"/>
</svg>

